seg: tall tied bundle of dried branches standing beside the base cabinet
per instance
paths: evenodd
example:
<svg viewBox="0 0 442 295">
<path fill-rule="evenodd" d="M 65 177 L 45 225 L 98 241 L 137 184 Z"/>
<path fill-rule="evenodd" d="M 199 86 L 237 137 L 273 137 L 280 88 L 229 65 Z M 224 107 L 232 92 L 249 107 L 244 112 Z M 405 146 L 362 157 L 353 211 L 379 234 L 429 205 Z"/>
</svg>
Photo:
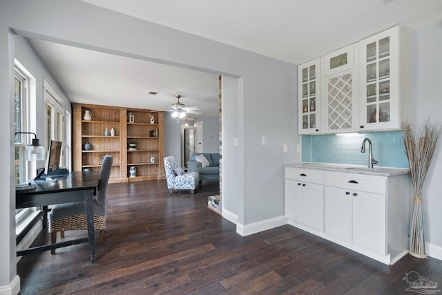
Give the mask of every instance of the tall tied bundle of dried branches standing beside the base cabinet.
<svg viewBox="0 0 442 295">
<path fill-rule="evenodd" d="M 409 122 L 402 123 L 405 154 L 410 165 L 410 178 L 414 189 L 413 212 L 410 225 L 410 246 L 408 253 L 426 258 L 423 234 L 422 189 L 430 167 L 430 162 L 441 133 L 439 124 L 427 120 L 418 132 Z"/>
</svg>

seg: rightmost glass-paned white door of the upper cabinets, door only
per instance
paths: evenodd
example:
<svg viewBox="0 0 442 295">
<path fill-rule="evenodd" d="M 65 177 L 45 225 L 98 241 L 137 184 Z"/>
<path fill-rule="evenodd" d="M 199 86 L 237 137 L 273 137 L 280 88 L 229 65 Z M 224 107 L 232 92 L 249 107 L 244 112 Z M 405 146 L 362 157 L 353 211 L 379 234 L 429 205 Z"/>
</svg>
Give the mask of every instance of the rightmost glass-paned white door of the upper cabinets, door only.
<svg viewBox="0 0 442 295">
<path fill-rule="evenodd" d="M 398 27 L 359 42 L 361 130 L 398 128 Z"/>
</svg>

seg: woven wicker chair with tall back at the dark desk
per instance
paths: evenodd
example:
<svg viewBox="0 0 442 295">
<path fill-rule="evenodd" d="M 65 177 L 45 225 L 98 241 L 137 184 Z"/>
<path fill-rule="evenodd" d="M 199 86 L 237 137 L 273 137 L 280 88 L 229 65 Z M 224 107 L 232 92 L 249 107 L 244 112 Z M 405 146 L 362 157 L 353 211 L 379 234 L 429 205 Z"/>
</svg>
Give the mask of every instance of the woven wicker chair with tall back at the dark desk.
<svg viewBox="0 0 442 295">
<path fill-rule="evenodd" d="M 111 175 L 112 162 L 112 155 L 104 156 L 99 171 L 97 195 L 93 197 L 94 227 L 95 230 L 99 230 L 101 243 L 104 242 L 104 229 L 106 228 L 106 189 Z M 48 216 L 48 231 L 52 244 L 57 242 L 57 231 L 60 232 L 60 238 L 64 238 L 64 231 L 84 229 L 88 229 L 84 202 L 56 204 L 51 209 Z M 50 253 L 55 254 L 55 249 L 51 249 Z"/>
</svg>

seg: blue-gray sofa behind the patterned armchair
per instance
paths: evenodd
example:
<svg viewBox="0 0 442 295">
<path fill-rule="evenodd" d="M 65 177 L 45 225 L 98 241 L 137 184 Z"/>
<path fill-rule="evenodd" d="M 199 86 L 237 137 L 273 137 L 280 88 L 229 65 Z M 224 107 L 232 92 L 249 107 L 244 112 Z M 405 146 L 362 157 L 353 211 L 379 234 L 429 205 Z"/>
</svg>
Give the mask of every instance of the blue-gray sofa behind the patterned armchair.
<svg viewBox="0 0 442 295">
<path fill-rule="evenodd" d="M 201 158 L 204 155 L 204 159 Z M 188 172 L 197 172 L 202 180 L 220 180 L 220 153 L 192 153 L 191 160 L 187 162 Z"/>
</svg>

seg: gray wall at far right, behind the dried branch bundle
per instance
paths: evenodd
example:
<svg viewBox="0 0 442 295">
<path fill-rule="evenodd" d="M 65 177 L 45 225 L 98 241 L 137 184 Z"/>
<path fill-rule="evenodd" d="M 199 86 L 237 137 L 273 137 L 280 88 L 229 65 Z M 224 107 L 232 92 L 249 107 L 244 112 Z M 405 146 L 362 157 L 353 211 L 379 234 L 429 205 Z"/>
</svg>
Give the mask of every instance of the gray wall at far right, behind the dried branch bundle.
<svg viewBox="0 0 442 295">
<path fill-rule="evenodd" d="M 430 118 L 442 123 L 442 21 L 412 36 L 412 122 L 421 126 Z M 425 240 L 439 247 L 442 257 L 442 135 L 423 187 Z M 428 251 L 427 247 L 427 251 Z M 434 247 L 430 247 L 434 251 Z"/>
</svg>

